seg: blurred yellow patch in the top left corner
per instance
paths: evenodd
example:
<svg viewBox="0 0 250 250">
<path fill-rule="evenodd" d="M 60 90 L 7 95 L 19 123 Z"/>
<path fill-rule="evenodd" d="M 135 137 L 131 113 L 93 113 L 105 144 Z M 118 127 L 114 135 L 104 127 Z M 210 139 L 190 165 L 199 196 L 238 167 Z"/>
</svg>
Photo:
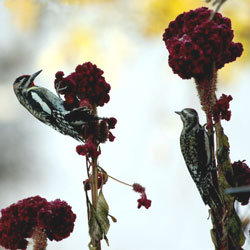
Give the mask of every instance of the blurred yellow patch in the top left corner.
<svg viewBox="0 0 250 250">
<path fill-rule="evenodd" d="M 14 24 L 21 30 L 34 29 L 39 21 L 42 5 L 36 0 L 4 0 Z"/>
</svg>

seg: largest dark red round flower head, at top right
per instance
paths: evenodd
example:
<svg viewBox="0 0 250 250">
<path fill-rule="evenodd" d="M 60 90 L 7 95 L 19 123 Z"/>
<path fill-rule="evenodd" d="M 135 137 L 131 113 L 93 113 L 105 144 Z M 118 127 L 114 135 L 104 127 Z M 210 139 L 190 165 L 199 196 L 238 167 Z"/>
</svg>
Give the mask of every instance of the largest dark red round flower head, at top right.
<svg viewBox="0 0 250 250">
<path fill-rule="evenodd" d="M 242 54 L 241 43 L 234 43 L 231 21 L 202 7 L 179 15 L 163 34 L 169 51 L 169 65 L 183 79 L 199 78 L 234 61 Z"/>
</svg>

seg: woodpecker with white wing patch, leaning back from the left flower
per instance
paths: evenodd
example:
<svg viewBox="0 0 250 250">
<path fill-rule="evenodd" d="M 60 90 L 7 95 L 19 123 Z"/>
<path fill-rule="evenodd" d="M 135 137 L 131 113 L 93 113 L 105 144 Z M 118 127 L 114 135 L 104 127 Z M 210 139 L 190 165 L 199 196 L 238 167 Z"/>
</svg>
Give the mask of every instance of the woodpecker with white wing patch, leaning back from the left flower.
<svg viewBox="0 0 250 250">
<path fill-rule="evenodd" d="M 46 88 L 35 86 L 34 80 L 42 70 L 33 75 L 18 77 L 14 92 L 19 102 L 38 120 L 51 126 L 63 135 L 83 141 L 80 133 L 84 125 L 99 118 L 87 107 L 66 110 L 63 100 Z"/>
</svg>

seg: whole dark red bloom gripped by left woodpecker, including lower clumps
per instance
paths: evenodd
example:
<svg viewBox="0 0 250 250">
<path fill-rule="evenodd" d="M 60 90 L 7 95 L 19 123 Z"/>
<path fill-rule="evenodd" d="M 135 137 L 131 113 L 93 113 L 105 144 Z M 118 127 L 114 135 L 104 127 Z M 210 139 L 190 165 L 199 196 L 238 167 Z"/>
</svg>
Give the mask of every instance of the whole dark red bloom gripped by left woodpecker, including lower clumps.
<svg viewBox="0 0 250 250">
<path fill-rule="evenodd" d="M 72 111 L 71 116 L 74 115 L 74 110 L 82 107 L 89 110 L 90 116 L 96 115 L 96 107 L 103 106 L 110 99 L 110 85 L 103 77 L 103 71 L 91 62 L 78 65 L 68 76 L 58 71 L 55 78 L 55 89 L 64 97 L 64 106 Z M 79 112 L 75 113 L 79 115 Z M 77 120 L 77 117 L 75 119 Z M 86 123 L 79 126 L 78 131 L 85 144 L 77 146 L 76 151 L 87 157 L 98 157 L 99 143 L 114 141 L 115 136 L 110 129 L 115 128 L 117 120 L 113 117 L 96 117 L 94 121 L 87 121 L 86 115 Z"/>
</svg>

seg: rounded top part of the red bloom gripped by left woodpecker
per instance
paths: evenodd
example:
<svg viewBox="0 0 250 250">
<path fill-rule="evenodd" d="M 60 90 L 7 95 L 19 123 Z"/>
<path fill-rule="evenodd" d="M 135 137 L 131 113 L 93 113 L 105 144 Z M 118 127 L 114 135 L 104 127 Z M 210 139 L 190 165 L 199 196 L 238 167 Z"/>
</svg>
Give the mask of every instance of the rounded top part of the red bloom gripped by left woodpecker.
<svg viewBox="0 0 250 250">
<path fill-rule="evenodd" d="M 56 73 L 55 88 L 64 95 L 65 104 L 79 107 L 87 99 L 92 106 L 103 106 L 109 101 L 110 85 L 102 76 L 103 71 L 91 62 L 78 65 L 75 72 L 64 77 L 62 71 Z"/>
</svg>

